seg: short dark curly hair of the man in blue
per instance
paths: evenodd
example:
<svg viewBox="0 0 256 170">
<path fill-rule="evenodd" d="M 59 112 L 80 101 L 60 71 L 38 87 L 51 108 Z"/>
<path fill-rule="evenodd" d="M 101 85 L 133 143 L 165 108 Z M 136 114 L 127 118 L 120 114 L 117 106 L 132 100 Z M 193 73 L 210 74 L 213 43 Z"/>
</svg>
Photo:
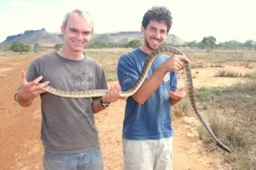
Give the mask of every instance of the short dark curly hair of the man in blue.
<svg viewBox="0 0 256 170">
<path fill-rule="evenodd" d="M 153 6 L 144 14 L 142 26 L 146 29 L 150 21 L 165 22 L 167 25 L 167 33 L 169 33 L 170 27 L 173 24 L 173 17 L 171 16 L 170 10 L 165 6 Z"/>
</svg>

